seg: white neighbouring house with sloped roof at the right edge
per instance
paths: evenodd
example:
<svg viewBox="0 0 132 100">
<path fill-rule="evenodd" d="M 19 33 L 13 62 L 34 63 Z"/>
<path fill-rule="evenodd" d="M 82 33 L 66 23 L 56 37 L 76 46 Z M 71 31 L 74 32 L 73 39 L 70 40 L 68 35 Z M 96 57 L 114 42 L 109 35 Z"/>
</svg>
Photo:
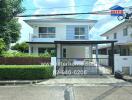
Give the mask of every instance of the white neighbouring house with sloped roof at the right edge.
<svg viewBox="0 0 132 100">
<path fill-rule="evenodd" d="M 117 40 L 115 43 L 115 71 L 120 70 L 132 74 L 132 21 L 124 21 L 101 36 L 106 40 Z M 99 54 L 109 55 L 109 45 L 100 47 Z"/>
</svg>

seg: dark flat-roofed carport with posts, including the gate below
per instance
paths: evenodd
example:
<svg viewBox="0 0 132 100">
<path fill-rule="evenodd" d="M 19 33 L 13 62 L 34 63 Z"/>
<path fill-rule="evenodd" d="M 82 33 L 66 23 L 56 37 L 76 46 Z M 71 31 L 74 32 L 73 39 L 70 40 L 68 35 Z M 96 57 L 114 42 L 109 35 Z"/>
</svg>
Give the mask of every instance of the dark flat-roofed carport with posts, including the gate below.
<svg viewBox="0 0 132 100">
<path fill-rule="evenodd" d="M 56 57 L 57 57 L 57 71 L 68 71 L 69 69 L 72 69 L 73 71 L 75 70 L 96 70 L 96 74 L 100 74 L 99 73 L 99 66 L 100 61 L 102 60 L 109 60 L 109 65 L 111 67 L 112 73 L 114 73 L 114 43 L 117 42 L 115 40 L 84 40 L 84 41 L 80 41 L 80 40 L 65 40 L 65 41 L 54 41 L 55 43 L 55 48 L 56 48 Z M 99 44 L 110 44 L 111 45 L 111 52 L 109 54 L 109 58 L 99 58 L 98 57 L 98 45 Z M 67 46 L 90 46 L 90 47 L 95 47 L 95 51 L 96 51 L 96 58 L 90 57 L 90 58 L 67 58 L 67 57 L 63 57 L 63 47 Z M 59 51 L 59 52 L 58 52 Z M 93 49 L 91 49 L 91 54 L 93 52 Z M 79 63 L 75 64 L 75 60 L 78 60 Z M 81 61 L 84 61 L 84 63 L 82 64 Z M 93 62 L 96 62 L 96 64 Z M 102 65 L 101 65 L 102 66 Z M 90 69 L 89 69 L 90 68 Z M 62 74 L 62 73 L 58 73 Z M 66 73 L 63 73 L 66 74 Z M 73 73 L 70 73 L 73 74 Z M 87 73 L 89 74 L 89 72 Z M 84 72 L 82 73 L 82 75 L 84 75 Z"/>
</svg>

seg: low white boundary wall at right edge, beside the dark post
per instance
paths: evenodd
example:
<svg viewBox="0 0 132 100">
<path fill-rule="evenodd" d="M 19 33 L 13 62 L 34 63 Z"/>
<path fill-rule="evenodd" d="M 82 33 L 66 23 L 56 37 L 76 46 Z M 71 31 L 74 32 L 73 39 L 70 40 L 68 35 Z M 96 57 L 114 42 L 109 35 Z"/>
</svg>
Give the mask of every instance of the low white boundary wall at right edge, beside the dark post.
<svg viewBox="0 0 132 100">
<path fill-rule="evenodd" d="M 122 71 L 122 67 L 130 67 L 130 74 L 132 75 L 132 56 L 115 55 L 115 71 Z"/>
</svg>

